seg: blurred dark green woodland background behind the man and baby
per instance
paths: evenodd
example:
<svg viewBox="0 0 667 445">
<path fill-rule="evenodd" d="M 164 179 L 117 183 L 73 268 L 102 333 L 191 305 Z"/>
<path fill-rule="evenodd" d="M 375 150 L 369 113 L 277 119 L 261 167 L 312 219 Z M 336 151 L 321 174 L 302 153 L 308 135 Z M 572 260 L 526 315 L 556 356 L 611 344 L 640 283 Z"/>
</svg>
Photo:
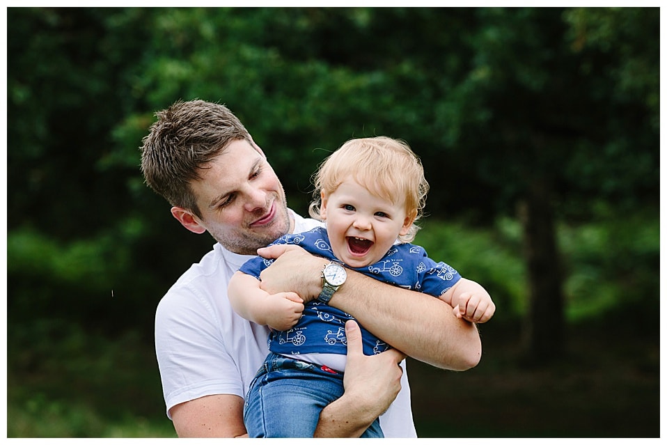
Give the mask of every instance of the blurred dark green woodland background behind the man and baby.
<svg viewBox="0 0 667 445">
<path fill-rule="evenodd" d="M 154 112 L 226 104 L 305 214 L 352 137 L 404 139 L 416 242 L 497 305 L 421 437 L 659 437 L 659 8 L 7 8 L 7 435 L 174 437 L 164 292 L 212 246 L 143 184 Z"/>
</svg>

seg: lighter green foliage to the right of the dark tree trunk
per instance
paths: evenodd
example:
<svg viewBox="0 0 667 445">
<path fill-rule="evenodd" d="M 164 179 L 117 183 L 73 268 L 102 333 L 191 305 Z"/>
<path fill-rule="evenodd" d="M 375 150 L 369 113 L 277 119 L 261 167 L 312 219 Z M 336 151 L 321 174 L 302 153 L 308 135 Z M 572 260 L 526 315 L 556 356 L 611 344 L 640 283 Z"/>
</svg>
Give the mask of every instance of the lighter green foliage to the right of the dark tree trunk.
<svg viewBox="0 0 667 445">
<path fill-rule="evenodd" d="M 608 217 L 560 231 L 568 276 L 567 315 L 572 322 L 659 306 L 659 216 L 636 212 Z M 648 325 L 657 327 L 658 315 L 650 319 Z"/>
</svg>

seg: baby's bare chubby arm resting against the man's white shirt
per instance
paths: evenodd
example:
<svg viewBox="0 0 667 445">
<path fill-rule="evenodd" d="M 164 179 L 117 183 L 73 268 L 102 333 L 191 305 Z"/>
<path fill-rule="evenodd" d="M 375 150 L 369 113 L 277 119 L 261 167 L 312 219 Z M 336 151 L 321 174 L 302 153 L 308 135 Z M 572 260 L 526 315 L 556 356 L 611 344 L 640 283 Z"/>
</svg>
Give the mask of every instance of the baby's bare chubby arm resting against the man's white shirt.
<svg viewBox="0 0 667 445">
<path fill-rule="evenodd" d="M 227 292 L 236 313 L 278 331 L 296 325 L 304 312 L 304 301 L 296 292 L 269 294 L 260 288 L 258 279 L 243 272 L 232 276 Z"/>
</svg>

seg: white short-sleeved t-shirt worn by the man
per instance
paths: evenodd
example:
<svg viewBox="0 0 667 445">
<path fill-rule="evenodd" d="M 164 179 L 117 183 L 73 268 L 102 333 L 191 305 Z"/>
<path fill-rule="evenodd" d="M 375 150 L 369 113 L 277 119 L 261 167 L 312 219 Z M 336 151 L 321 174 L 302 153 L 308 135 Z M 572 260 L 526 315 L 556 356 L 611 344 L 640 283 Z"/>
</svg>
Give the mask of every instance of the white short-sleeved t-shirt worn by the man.
<svg viewBox="0 0 667 445">
<path fill-rule="evenodd" d="M 295 233 L 317 225 L 295 217 Z M 268 328 L 237 315 L 227 297 L 232 275 L 251 256 L 219 243 L 169 289 L 155 313 L 155 350 L 169 409 L 214 394 L 243 398 L 267 353 Z M 385 437 L 416 437 L 405 360 L 401 391 L 380 416 Z"/>
</svg>

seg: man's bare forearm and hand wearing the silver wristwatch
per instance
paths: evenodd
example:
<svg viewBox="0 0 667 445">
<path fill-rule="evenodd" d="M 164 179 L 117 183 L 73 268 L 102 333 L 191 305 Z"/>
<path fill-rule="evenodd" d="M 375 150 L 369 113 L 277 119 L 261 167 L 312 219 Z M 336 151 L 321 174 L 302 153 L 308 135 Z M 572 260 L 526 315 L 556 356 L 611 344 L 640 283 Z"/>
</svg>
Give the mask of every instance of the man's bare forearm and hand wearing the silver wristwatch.
<svg viewBox="0 0 667 445">
<path fill-rule="evenodd" d="M 284 244 L 259 249 L 258 253 L 276 258 L 262 272 L 262 288 L 267 292 L 293 290 L 305 302 L 319 295 L 320 271 L 328 260 Z M 482 345 L 477 327 L 456 318 L 451 306 L 431 295 L 349 271 L 345 285 L 329 304 L 353 315 L 394 348 L 432 366 L 466 370 L 480 361 Z"/>
</svg>

